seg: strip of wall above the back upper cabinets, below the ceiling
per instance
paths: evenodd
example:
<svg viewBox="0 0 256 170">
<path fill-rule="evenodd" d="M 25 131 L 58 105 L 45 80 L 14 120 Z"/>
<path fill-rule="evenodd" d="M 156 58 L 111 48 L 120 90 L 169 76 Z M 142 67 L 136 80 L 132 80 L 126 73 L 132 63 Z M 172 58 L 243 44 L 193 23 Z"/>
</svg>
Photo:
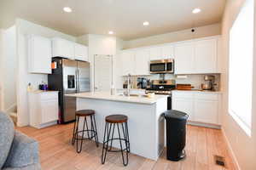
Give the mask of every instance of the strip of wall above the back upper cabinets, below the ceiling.
<svg viewBox="0 0 256 170">
<path fill-rule="evenodd" d="M 183 31 L 175 31 L 166 34 L 160 34 L 151 37 L 143 37 L 134 39 L 131 41 L 124 42 L 124 48 L 139 48 L 143 46 L 150 46 L 156 45 L 160 43 L 166 42 L 178 42 L 189 40 L 193 38 L 200 38 L 200 37 L 210 37 L 216 36 L 221 34 L 221 24 L 214 24 L 209 26 L 201 26 L 195 28 L 195 32 L 192 33 L 191 29 L 183 30 Z"/>
</svg>

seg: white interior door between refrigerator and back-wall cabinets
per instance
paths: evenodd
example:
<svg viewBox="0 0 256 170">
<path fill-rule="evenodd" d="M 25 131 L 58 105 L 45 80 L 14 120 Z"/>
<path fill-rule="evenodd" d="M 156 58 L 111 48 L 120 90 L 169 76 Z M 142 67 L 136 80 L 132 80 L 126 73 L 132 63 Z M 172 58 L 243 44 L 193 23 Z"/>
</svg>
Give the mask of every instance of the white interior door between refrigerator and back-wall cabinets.
<svg viewBox="0 0 256 170">
<path fill-rule="evenodd" d="M 95 55 L 94 57 L 94 90 L 110 91 L 113 84 L 113 56 Z"/>
</svg>

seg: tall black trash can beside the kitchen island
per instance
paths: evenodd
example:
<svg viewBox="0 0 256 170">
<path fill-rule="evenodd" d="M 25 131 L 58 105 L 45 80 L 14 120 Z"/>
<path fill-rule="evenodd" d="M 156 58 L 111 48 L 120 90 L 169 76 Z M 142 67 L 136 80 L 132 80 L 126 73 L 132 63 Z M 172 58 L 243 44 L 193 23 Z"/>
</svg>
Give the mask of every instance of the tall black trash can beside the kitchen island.
<svg viewBox="0 0 256 170">
<path fill-rule="evenodd" d="M 179 161 L 186 156 L 186 124 L 188 115 L 182 111 L 166 111 L 167 160 Z"/>
</svg>

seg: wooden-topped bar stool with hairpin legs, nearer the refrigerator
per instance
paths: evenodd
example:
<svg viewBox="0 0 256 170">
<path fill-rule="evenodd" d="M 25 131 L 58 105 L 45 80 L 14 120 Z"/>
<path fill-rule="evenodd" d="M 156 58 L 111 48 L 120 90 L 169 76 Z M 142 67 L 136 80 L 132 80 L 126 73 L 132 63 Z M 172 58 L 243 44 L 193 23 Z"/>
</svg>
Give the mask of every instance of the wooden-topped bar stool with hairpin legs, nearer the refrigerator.
<svg viewBox="0 0 256 170">
<path fill-rule="evenodd" d="M 88 128 L 87 116 L 90 116 L 90 129 Z M 83 130 L 79 131 L 80 117 L 84 117 L 84 125 L 83 125 Z M 85 125 L 86 125 L 86 129 L 85 129 Z M 79 133 L 82 133 L 81 137 L 79 137 Z M 87 133 L 87 136 L 88 136 L 87 138 L 84 137 L 84 133 Z M 93 110 L 76 111 L 76 120 L 75 120 L 74 127 L 73 127 L 72 144 L 74 144 L 76 142 L 77 152 L 78 153 L 81 152 L 84 139 L 93 139 L 93 138 L 95 138 L 96 147 L 98 147 L 99 144 L 98 144 L 96 121 L 95 121 L 95 111 L 93 111 Z M 81 141 L 80 147 L 79 147 L 79 140 Z"/>
</svg>

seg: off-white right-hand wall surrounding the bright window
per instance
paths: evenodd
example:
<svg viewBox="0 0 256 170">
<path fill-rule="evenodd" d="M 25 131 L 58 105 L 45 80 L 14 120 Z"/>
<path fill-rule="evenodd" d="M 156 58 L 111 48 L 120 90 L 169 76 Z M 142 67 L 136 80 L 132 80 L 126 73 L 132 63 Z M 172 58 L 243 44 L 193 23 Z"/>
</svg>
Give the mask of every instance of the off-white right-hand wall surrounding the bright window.
<svg viewBox="0 0 256 170">
<path fill-rule="evenodd" d="M 254 34 L 254 61 L 253 61 L 253 117 L 252 117 L 252 136 L 247 136 L 241 127 L 228 113 L 228 68 L 229 68 L 229 34 L 233 22 L 236 20 L 236 15 L 241 9 L 241 5 L 245 0 L 228 0 L 226 3 L 224 18 L 222 22 L 222 34 L 224 45 L 224 74 L 222 75 L 222 85 L 224 90 L 224 113 L 222 114 L 223 131 L 228 139 L 233 154 L 236 158 L 241 170 L 256 169 L 256 35 Z M 254 13 L 254 19 L 256 14 Z M 255 26 L 255 22 L 254 22 Z M 255 26 L 256 28 L 256 26 Z M 254 31 L 256 32 L 256 30 Z M 241 32 L 242 33 L 242 32 Z M 253 35 L 252 35 L 253 36 Z M 241 56 L 242 64 L 242 56 Z M 241 82 L 242 82 L 242 77 Z M 242 88 L 241 88 L 242 90 Z"/>
</svg>

